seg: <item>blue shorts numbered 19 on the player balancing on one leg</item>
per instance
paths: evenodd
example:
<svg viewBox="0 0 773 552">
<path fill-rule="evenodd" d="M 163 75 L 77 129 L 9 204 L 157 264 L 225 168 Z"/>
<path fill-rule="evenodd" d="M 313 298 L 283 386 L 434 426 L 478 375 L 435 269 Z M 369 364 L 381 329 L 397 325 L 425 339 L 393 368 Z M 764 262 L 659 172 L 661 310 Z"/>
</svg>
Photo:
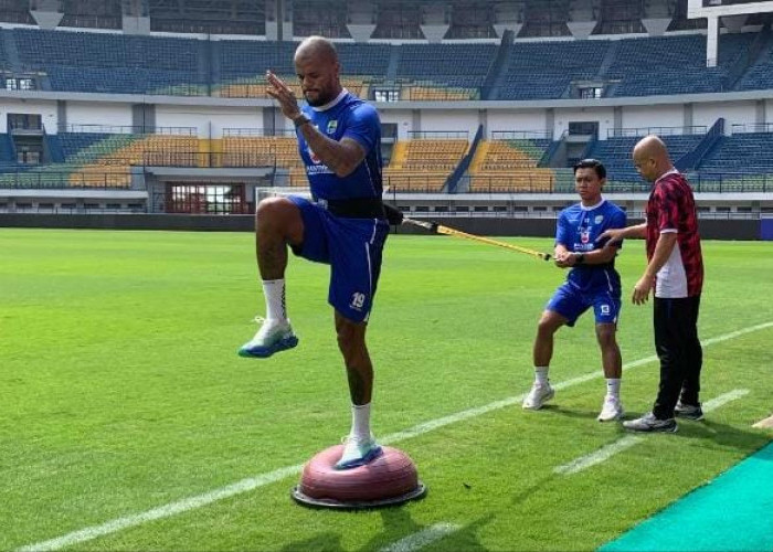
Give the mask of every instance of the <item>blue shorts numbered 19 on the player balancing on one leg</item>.
<svg viewBox="0 0 773 552">
<path fill-rule="evenodd" d="M 349 320 L 368 321 L 389 223 L 335 216 L 307 199 L 295 195 L 288 199 L 300 209 L 304 220 L 304 243 L 293 247 L 293 253 L 330 265 L 328 302 Z"/>
</svg>

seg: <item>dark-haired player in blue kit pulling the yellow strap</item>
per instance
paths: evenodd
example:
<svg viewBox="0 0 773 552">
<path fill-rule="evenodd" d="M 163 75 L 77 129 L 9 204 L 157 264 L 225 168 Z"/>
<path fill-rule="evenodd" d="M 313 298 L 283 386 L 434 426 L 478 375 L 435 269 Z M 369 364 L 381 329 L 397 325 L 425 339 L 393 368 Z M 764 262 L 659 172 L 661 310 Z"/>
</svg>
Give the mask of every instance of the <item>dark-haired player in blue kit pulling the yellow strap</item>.
<svg viewBox="0 0 773 552">
<path fill-rule="evenodd" d="M 620 380 L 623 370 L 615 333 L 621 309 L 620 275 L 615 256 L 622 246 L 599 242 L 610 229 L 625 227 L 625 211 L 602 197 L 606 169 L 595 159 L 583 159 L 574 166 L 574 187 L 580 203 L 568 206 L 558 220 L 555 264 L 571 268 L 566 282 L 548 301 L 537 326 L 534 339 L 534 383 L 523 400 L 523 408 L 539 410 L 553 397 L 548 369 L 553 355 L 553 335 L 562 326 L 574 326 L 578 318 L 593 308 L 596 340 L 601 348 L 606 378 L 606 394 L 597 420 L 610 422 L 623 417 Z"/>
</svg>

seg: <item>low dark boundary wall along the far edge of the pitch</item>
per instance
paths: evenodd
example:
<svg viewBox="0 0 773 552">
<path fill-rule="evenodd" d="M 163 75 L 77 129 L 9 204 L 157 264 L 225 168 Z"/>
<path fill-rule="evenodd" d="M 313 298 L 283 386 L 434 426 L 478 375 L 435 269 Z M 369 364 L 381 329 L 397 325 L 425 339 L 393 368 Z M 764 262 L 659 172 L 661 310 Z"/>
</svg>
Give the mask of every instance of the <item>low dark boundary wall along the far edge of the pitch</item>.
<svg viewBox="0 0 773 552">
<path fill-rule="evenodd" d="M 468 232 L 490 236 L 555 235 L 553 219 L 505 217 L 435 217 L 434 221 Z M 631 224 L 640 221 L 629 220 Z M 764 226 L 763 226 L 764 225 Z M 183 215 L 183 214 L 0 214 L 0 227 L 25 229 L 104 229 L 104 230 L 179 230 L 205 232 L 252 232 L 252 215 Z M 763 231 L 764 229 L 764 231 Z M 400 234 L 426 234 L 413 226 L 400 226 Z M 772 240 L 773 220 L 729 221 L 701 220 L 700 233 L 706 240 Z M 767 237 L 764 237 L 767 236 Z"/>
</svg>

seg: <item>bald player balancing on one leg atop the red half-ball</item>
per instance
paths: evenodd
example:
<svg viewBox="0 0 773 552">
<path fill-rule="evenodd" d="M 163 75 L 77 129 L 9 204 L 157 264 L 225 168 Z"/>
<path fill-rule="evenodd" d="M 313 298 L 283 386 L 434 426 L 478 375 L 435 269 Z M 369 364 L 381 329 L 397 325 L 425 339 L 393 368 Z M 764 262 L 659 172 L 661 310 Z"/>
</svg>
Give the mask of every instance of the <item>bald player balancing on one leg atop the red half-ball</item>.
<svg viewBox="0 0 773 552">
<path fill-rule="evenodd" d="M 373 365 L 366 346 L 368 318 L 381 272 L 389 223 L 381 201 L 381 123 L 375 109 L 341 86 L 335 46 L 321 36 L 304 40 L 295 67 L 307 105 L 267 73 L 268 94 L 293 120 L 311 200 L 263 200 L 255 212 L 257 265 L 266 318 L 242 357 L 267 358 L 298 343 L 285 309 L 287 246 L 330 265 L 328 302 L 335 309 L 352 402 L 352 426 L 338 469 L 382 454 L 370 431 Z"/>
</svg>

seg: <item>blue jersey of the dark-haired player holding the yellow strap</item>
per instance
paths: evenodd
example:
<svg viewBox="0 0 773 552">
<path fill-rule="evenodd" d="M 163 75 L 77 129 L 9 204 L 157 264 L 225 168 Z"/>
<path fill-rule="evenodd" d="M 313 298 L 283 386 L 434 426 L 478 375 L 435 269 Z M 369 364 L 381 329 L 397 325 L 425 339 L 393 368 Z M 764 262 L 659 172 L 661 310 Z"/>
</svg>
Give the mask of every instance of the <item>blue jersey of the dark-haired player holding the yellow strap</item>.
<svg viewBox="0 0 773 552">
<path fill-rule="evenodd" d="M 566 250 L 576 253 L 600 250 L 604 245 L 603 242 L 596 242 L 601 233 L 610 229 L 624 229 L 625 223 L 625 211 L 610 201 L 602 200 L 592 208 L 576 203 L 561 211 L 555 231 L 555 244 L 562 244 Z M 622 244 L 620 246 L 622 247 Z M 620 293 L 620 275 L 614 265 L 613 259 L 604 265 L 575 266 L 566 276 L 566 282 L 583 291 Z"/>
</svg>

